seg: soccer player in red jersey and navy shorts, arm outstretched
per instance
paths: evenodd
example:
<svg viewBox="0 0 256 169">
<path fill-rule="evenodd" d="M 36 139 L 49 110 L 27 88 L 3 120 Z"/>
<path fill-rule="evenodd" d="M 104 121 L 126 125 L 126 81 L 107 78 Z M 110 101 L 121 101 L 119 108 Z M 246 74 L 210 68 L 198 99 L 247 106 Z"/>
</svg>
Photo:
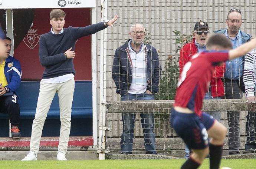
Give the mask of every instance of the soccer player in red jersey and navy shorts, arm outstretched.
<svg viewBox="0 0 256 169">
<path fill-rule="evenodd" d="M 196 169 L 210 152 L 210 169 L 218 169 L 227 129 L 201 111 L 204 95 L 209 89 L 214 66 L 243 56 L 256 46 L 256 39 L 232 49 L 232 43 L 222 34 L 214 34 L 207 50 L 193 55 L 185 64 L 177 84 L 171 125 L 188 148 L 193 150 L 181 169 Z M 209 140 L 209 137 L 211 139 Z"/>
</svg>

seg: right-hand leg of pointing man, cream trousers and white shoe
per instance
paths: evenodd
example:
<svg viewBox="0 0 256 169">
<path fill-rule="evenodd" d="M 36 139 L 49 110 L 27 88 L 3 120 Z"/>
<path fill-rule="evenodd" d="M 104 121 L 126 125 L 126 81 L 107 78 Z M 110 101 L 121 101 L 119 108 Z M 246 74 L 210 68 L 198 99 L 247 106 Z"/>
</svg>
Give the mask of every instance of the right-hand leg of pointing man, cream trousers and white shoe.
<svg viewBox="0 0 256 169">
<path fill-rule="evenodd" d="M 67 82 L 57 84 L 57 86 L 61 122 L 57 160 L 66 160 L 65 154 L 68 149 L 75 80 L 72 78 Z"/>
</svg>

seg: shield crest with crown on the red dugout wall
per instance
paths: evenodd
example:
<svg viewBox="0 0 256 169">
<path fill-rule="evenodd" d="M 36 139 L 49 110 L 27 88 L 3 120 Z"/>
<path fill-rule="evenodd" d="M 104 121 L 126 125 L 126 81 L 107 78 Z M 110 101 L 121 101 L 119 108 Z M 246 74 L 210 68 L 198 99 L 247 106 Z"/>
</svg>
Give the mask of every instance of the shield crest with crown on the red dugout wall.
<svg viewBox="0 0 256 169">
<path fill-rule="evenodd" d="M 29 47 L 30 49 L 34 49 L 39 42 L 40 35 L 36 34 L 37 29 L 29 29 L 26 36 L 23 38 L 23 42 Z"/>
</svg>

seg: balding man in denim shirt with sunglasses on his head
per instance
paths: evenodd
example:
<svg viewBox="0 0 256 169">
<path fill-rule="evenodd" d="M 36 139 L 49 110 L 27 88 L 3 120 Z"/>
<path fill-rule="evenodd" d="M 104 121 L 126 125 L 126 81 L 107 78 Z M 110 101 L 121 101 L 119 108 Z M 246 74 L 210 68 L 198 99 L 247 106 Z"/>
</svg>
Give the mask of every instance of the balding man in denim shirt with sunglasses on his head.
<svg viewBox="0 0 256 169">
<path fill-rule="evenodd" d="M 227 29 L 217 30 L 215 33 L 224 34 L 228 37 L 233 49 L 246 43 L 251 36 L 240 30 L 242 25 L 242 13 L 239 9 L 231 9 L 227 14 Z M 225 96 L 223 99 L 242 99 L 244 92 L 243 83 L 244 56 L 226 61 L 224 73 Z M 240 154 L 239 119 L 240 112 L 227 112 L 229 123 L 229 155 Z"/>
</svg>

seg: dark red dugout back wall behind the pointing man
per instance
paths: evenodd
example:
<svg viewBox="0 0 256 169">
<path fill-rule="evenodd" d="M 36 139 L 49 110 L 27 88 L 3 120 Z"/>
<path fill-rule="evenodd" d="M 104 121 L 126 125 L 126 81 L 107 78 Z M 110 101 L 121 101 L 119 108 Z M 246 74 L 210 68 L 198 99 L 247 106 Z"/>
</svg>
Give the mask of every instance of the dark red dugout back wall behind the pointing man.
<svg viewBox="0 0 256 169">
<path fill-rule="evenodd" d="M 14 50 L 14 57 L 18 59 L 22 65 L 22 80 L 41 80 L 44 67 L 39 62 L 39 36 L 47 33 L 51 29 L 49 13 L 51 9 L 35 9 L 33 26 L 36 41 L 29 41 L 25 36 L 19 46 Z M 91 12 L 89 8 L 62 9 L 66 13 L 65 26 L 84 27 L 91 24 Z M 26 16 L 24 16 L 26 17 Z M 15 29 L 15 24 L 14 29 Z M 34 36 L 32 33 L 28 33 Z M 15 40 L 15 39 L 14 39 Z M 26 43 L 25 43 L 25 42 Z M 37 44 L 36 44 L 37 43 Z M 27 46 L 29 45 L 30 48 Z M 31 49 L 33 48 L 33 49 Z M 91 36 L 82 37 L 78 40 L 75 47 L 76 57 L 73 60 L 75 65 L 75 80 L 91 80 Z"/>
</svg>

